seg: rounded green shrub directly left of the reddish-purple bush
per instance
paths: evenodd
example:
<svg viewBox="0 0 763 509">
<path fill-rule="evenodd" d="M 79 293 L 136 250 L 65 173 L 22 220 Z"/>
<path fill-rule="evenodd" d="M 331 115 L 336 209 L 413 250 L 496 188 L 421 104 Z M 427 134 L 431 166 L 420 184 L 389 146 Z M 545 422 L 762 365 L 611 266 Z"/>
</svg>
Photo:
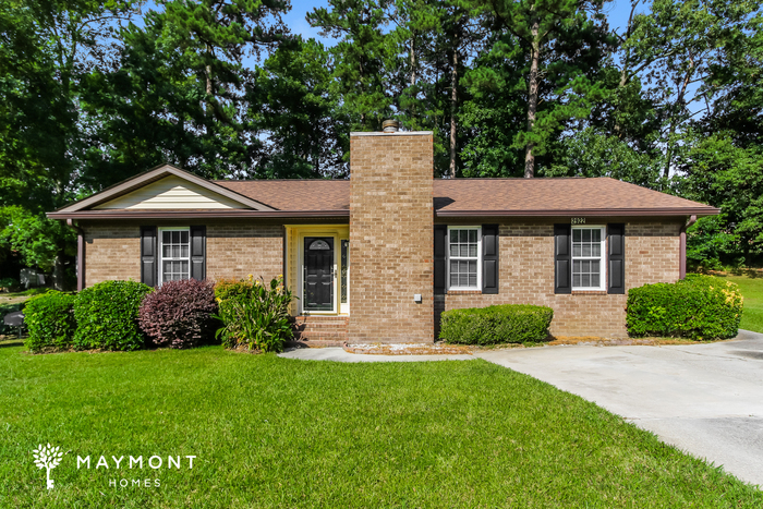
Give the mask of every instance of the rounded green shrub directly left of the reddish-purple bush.
<svg viewBox="0 0 763 509">
<path fill-rule="evenodd" d="M 137 310 L 153 289 L 135 281 L 104 281 L 82 290 L 74 301 L 78 349 L 137 350 L 145 338 Z"/>
</svg>

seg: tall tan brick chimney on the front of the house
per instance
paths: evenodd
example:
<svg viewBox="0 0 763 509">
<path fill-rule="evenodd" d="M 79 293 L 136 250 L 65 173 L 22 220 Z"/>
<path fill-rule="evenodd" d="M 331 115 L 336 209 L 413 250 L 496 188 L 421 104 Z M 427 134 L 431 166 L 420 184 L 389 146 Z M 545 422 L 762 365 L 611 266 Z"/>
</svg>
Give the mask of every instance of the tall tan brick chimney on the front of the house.
<svg viewBox="0 0 763 509">
<path fill-rule="evenodd" d="M 350 137 L 352 342 L 434 339 L 432 147 L 432 133 Z"/>
</svg>

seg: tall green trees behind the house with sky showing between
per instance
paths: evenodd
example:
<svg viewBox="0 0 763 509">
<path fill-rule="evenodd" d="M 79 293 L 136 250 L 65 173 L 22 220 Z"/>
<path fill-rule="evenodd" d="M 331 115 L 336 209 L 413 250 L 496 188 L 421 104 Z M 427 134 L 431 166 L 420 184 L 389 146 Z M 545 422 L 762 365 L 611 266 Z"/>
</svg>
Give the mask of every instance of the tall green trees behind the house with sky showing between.
<svg viewBox="0 0 763 509">
<path fill-rule="evenodd" d="M 751 0 L 0 4 L 0 278 L 71 280 L 44 213 L 161 162 L 344 178 L 349 133 L 435 133 L 439 177 L 607 175 L 717 206 L 698 264 L 763 262 L 763 21 Z"/>
</svg>

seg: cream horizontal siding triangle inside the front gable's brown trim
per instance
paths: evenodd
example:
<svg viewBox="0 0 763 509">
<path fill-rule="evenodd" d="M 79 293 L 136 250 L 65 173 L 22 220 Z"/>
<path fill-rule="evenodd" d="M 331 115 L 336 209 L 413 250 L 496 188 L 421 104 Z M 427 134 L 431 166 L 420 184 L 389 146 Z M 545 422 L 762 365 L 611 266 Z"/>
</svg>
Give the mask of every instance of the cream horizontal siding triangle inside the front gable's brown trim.
<svg viewBox="0 0 763 509">
<path fill-rule="evenodd" d="M 166 177 L 137 191 L 100 204 L 96 209 L 249 208 L 179 177 Z"/>
</svg>

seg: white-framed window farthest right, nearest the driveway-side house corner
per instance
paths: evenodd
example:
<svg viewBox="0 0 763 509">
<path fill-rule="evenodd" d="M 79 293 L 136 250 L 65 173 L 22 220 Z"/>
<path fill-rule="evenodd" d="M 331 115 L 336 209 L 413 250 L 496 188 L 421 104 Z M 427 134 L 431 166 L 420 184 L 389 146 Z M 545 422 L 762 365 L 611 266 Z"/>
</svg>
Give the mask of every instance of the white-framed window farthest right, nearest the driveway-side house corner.
<svg viewBox="0 0 763 509">
<path fill-rule="evenodd" d="M 572 290 L 604 290 L 604 228 L 572 227 Z"/>
</svg>

